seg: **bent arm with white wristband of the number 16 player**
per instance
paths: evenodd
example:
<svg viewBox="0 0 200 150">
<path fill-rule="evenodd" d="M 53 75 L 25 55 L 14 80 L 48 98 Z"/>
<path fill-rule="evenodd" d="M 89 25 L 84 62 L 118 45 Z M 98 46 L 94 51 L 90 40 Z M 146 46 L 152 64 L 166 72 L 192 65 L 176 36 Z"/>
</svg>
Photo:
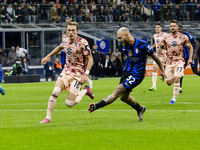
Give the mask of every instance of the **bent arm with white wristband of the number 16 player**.
<svg viewBox="0 0 200 150">
<path fill-rule="evenodd" d="M 93 57 L 92 57 L 92 54 L 90 52 L 90 48 L 89 48 L 88 45 L 86 45 L 85 48 L 83 49 L 83 54 L 86 57 L 86 59 L 88 60 L 88 62 L 87 62 L 86 71 L 85 71 L 84 75 L 81 77 L 81 82 L 87 83 L 88 75 L 89 75 L 90 70 L 93 66 Z"/>
</svg>

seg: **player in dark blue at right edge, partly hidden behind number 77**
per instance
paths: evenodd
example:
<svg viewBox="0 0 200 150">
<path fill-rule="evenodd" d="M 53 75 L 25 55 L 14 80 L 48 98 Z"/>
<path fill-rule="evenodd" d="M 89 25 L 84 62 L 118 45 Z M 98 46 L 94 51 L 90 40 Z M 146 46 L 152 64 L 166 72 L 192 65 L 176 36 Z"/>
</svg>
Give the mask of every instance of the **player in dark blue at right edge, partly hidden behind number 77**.
<svg viewBox="0 0 200 150">
<path fill-rule="evenodd" d="M 179 32 L 185 34 L 188 39 L 190 40 L 190 42 L 192 43 L 193 49 L 194 49 L 194 53 L 193 53 L 193 57 L 192 57 L 192 64 L 191 64 L 191 68 L 194 74 L 200 76 L 200 70 L 198 70 L 198 60 L 197 60 L 197 53 L 198 53 L 198 49 L 199 49 L 199 42 L 188 32 L 185 32 L 183 30 L 183 26 L 179 25 Z M 189 59 L 189 49 L 187 48 L 187 46 L 184 46 L 184 57 L 185 57 L 185 67 L 187 67 L 187 62 Z M 182 93 L 182 82 L 183 82 L 183 77 L 181 77 L 180 80 L 180 93 Z"/>
</svg>

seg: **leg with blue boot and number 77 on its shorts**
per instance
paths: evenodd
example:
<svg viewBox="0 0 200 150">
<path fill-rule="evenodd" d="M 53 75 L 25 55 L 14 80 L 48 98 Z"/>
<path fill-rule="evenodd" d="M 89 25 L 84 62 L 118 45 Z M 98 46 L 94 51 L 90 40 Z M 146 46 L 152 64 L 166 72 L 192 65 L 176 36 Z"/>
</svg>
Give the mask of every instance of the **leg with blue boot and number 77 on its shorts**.
<svg viewBox="0 0 200 150">
<path fill-rule="evenodd" d="M 173 97 L 169 104 L 174 104 L 180 91 L 180 78 L 184 75 L 184 63 L 180 62 L 174 67 Z"/>
</svg>

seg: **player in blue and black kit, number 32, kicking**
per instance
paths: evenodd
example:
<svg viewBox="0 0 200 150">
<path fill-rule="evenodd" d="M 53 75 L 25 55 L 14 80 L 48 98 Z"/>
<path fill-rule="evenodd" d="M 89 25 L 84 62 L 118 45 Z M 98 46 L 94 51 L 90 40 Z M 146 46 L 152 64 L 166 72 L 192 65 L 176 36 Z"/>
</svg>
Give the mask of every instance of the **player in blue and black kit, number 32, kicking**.
<svg viewBox="0 0 200 150">
<path fill-rule="evenodd" d="M 120 85 L 108 97 L 99 103 L 91 103 L 89 112 L 93 112 L 114 102 L 118 97 L 137 111 L 138 121 L 143 120 L 145 106 L 140 106 L 136 100 L 130 96 L 133 88 L 139 85 L 145 76 L 146 55 L 151 56 L 161 69 L 161 76 L 164 80 L 164 68 L 159 58 L 154 54 L 153 49 L 147 42 L 134 38 L 128 28 L 122 27 L 117 31 L 117 38 L 121 44 L 122 64 L 124 69 L 121 75 Z M 125 63 L 124 63 L 125 61 Z"/>
</svg>

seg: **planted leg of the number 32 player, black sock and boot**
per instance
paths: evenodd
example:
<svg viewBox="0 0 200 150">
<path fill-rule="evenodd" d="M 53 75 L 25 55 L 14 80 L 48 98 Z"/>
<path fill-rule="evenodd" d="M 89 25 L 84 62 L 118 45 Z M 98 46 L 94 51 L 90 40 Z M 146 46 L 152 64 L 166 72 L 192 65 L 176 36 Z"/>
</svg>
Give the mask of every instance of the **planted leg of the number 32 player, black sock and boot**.
<svg viewBox="0 0 200 150">
<path fill-rule="evenodd" d="M 140 104 L 132 97 L 130 96 L 130 92 L 125 92 L 120 99 L 130 105 L 132 108 L 134 108 L 137 111 L 138 114 L 138 121 L 143 120 L 143 114 L 146 110 L 145 106 L 140 106 Z"/>
</svg>

